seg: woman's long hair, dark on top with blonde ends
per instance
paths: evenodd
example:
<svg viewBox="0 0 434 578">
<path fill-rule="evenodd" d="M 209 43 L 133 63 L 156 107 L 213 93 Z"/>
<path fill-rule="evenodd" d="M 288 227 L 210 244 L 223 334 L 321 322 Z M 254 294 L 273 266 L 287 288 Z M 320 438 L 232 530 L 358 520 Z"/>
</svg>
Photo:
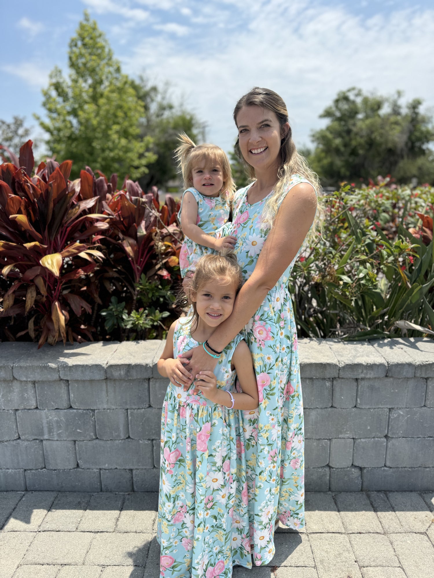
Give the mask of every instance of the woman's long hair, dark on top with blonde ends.
<svg viewBox="0 0 434 578">
<path fill-rule="evenodd" d="M 282 128 L 288 123 L 288 110 L 285 102 L 277 92 L 268 88 L 255 86 L 244 97 L 241 97 L 234 109 L 234 121 L 237 125 L 237 116 L 244 106 L 260 106 L 263 109 L 271 110 L 277 116 L 279 125 Z M 238 126 L 238 125 L 237 125 Z M 255 178 L 255 169 L 244 159 L 240 150 L 240 139 L 237 138 L 235 151 L 240 158 L 245 171 L 251 179 Z M 279 165 L 277 169 L 277 183 L 274 186 L 273 194 L 267 199 L 263 210 L 262 228 L 273 227 L 273 221 L 279 208 L 279 200 L 285 191 L 285 185 L 289 182 L 292 175 L 300 175 L 307 179 L 315 189 L 315 194 L 319 192 L 319 179 L 317 173 L 314 173 L 307 164 L 306 158 L 297 153 L 294 141 L 292 140 L 292 130 L 289 127 L 286 135 L 281 140 L 279 150 Z"/>
</svg>

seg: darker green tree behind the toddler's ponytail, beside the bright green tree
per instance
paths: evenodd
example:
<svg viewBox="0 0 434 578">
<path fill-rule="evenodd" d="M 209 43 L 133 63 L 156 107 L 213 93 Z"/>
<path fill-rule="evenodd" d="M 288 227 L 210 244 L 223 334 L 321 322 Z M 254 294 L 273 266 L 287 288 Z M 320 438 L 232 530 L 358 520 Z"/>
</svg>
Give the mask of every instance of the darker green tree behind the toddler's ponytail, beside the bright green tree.
<svg viewBox="0 0 434 578">
<path fill-rule="evenodd" d="M 152 139 L 150 150 L 156 155 L 155 161 L 148 164 L 148 172 L 139 182 L 142 188 L 165 186 L 177 175 L 174 150 L 179 144 L 178 135 L 185 132 L 194 142 L 198 142 L 203 124 L 182 104 L 172 102 L 168 97 L 167 86 L 150 86 L 143 76 L 133 84 L 145 108 L 145 116 L 140 122 L 141 136 Z"/>
</svg>

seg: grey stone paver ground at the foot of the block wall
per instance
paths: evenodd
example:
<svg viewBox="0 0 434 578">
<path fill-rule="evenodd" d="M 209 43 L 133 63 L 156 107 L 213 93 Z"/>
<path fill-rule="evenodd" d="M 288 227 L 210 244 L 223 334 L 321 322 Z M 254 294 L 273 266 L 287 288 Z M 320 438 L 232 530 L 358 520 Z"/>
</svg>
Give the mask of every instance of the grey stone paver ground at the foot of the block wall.
<svg viewBox="0 0 434 578">
<path fill-rule="evenodd" d="M 156 493 L 0 492 L 0 578 L 159 578 Z M 234 578 L 433 578 L 433 492 L 311 492 Z"/>
</svg>

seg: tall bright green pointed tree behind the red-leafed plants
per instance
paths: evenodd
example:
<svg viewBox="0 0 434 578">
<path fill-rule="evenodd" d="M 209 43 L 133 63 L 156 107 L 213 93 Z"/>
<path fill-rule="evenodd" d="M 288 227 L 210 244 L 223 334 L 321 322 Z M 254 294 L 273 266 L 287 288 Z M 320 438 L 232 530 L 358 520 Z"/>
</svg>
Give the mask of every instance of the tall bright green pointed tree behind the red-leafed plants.
<svg viewBox="0 0 434 578">
<path fill-rule="evenodd" d="M 36 116 L 50 151 L 73 161 L 72 177 L 86 165 L 107 175 L 143 175 L 155 160 L 151 139 L 140 134 L 144 103 L 87 11 L 69 41 L 68 65 L 69 78 L 56 66 L 42 91 L 47 120 Z"/>
</svg>

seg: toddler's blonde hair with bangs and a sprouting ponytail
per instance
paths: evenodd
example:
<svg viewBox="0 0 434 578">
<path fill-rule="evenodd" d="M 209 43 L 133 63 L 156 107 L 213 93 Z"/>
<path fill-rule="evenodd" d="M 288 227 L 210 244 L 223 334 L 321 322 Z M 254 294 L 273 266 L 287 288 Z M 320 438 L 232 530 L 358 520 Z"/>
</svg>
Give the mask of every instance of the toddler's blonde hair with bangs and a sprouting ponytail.
<svg viewBox="0 0 434 578">
<path fill-rule="evenodd" d="M 216 144 L 194 144 L 189 136 L 182 132 L 178 136 L 181 144 L 175 150 L 175 159 L 178 163 L 179 171 L 182 173 L 184 187 L 193 186 L 193 168 L 200 166 L 201 162 L 218 163 L 223 171 L 223 185 L 220 190 L 220 197 L 231 201 L 236 191 L 235 183 L 232 179 L 229 158 L 224 150 Z"/>
</svg>

